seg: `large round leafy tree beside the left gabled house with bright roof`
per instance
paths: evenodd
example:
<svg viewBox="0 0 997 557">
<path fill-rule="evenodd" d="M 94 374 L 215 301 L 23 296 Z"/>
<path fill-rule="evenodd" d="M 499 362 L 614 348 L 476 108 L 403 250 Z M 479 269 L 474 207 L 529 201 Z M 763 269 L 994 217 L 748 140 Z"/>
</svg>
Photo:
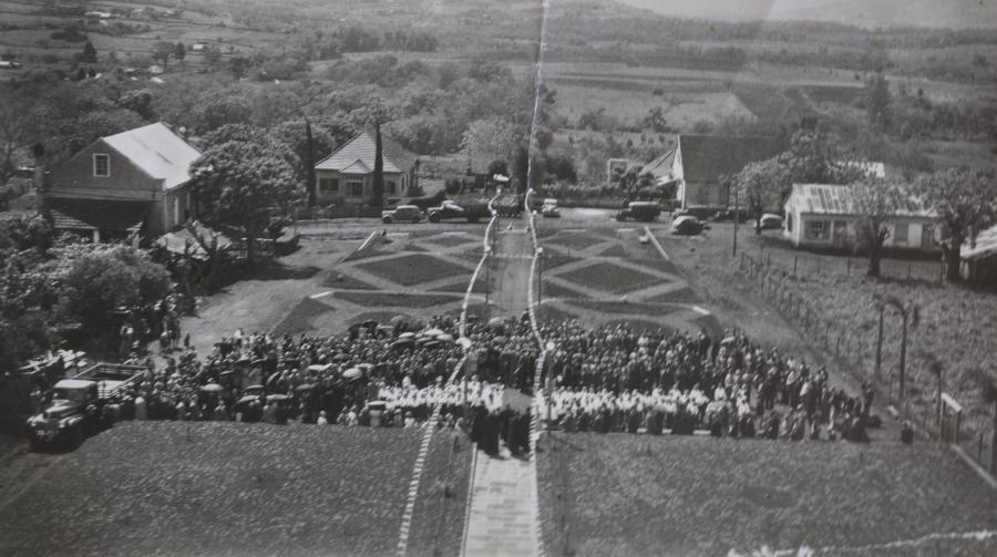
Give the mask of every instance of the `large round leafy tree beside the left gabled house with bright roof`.
<svg viewBox="0 0 997 557">
<path fill-rule="evenodd" d="M 243 233 L 254 262 L 255 239 L 263 236 L 274 208 L 298 197 L 295 169 L 280 146 L 264 141 L 230 141 L 208 148 L 191 165 L 192 188 L 209 207 L 207 219 Z"/>
</svg>

